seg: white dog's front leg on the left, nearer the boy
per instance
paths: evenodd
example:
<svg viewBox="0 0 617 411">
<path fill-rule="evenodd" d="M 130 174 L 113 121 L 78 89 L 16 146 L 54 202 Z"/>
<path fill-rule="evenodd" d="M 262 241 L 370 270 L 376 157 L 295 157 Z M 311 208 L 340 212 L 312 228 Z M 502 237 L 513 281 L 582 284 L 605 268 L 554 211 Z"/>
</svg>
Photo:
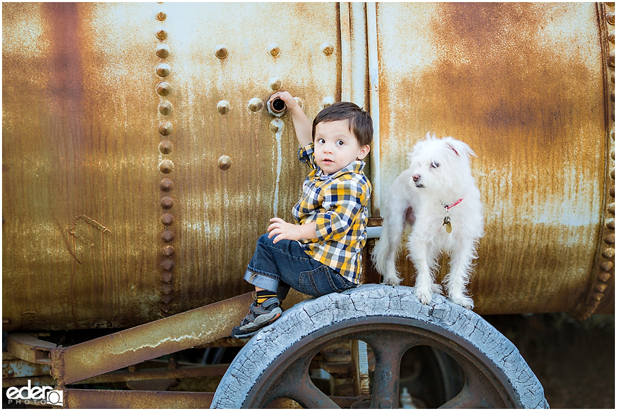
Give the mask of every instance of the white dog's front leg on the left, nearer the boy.
<svg viewBox="0 0 617 411">
<path fill-rule="evenodd" d="M 421 303 L 428 304 L 433 298 L 433 292 L 439 290 L 439 287 L 435 284 L 435 271 L 437 270 L 439 250 L 431 247 L 422 238 L 414 236 L 413 232 L 409 235 L 407 249 L 409 250 L 408 257 L 413 261 L 417 271 L 413 293 Z"/>
</svg>

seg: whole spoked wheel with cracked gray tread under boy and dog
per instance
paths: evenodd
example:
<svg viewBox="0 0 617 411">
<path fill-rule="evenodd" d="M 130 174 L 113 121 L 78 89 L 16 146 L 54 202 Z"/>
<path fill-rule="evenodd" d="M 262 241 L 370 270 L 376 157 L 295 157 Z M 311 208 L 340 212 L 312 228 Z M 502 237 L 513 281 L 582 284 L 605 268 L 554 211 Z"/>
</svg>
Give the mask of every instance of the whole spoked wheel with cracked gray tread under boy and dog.
<svg viewBox="0 0 617 411">
<path fill-rule="evenodd" d="M 445 297 L 423 306 L 413 288 L 372 284 L 303 301 L 265 327 L 230 365 L 212 408 L 266 408 L 279 398 L 339 408 L 311 382 L 309 364 L 341 339 L 374 351 L 372 408 L 398 406 L 400 360 L 418 345 L 444 351 L 463 370 L 463 389 L 443 408 L 548 408 L 518 349 L 481 316 Z"/>
</svg>

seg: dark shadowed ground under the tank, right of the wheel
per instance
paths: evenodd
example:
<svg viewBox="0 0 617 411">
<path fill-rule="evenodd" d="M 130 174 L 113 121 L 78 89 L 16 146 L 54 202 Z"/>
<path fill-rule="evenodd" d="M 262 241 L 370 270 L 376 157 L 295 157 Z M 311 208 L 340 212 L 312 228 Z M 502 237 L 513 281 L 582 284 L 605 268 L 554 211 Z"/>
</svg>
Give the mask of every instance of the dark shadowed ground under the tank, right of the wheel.
<svg viewBox="0 0 617 411">
<path fill-rule="evenodd" d="M 551 408 L 615 408 L 615 317 L 484 316 L 512 341 Z"/>
</svg>

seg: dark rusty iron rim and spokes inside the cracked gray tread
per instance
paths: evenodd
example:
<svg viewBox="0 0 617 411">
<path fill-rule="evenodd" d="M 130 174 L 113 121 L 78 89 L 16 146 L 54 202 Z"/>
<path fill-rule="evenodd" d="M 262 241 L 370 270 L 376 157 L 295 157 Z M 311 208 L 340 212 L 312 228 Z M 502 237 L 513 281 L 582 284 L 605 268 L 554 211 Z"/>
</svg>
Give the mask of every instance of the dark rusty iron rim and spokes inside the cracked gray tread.
<svg viewBox="0 0 617 411">
<path fill-rule="evenodd" d="M 309 334 L 289 347 L 257 379 L 243 408 L 266 408 L 279 398 L 304 408 L 340 408 L 309 377 L 315 354 L 337 340 L 363 340 L 372 347 L 376 366 L 371 408 L 398 407 L 400 360 L 411 347 L 426 345 L 455 359 L 465 376 L 461 392 L 441 408 L 520 408 L 513 388 L 481 351 L 459 336 L 430 323 L 394 316 L 342 321 Z"/>
</svg>

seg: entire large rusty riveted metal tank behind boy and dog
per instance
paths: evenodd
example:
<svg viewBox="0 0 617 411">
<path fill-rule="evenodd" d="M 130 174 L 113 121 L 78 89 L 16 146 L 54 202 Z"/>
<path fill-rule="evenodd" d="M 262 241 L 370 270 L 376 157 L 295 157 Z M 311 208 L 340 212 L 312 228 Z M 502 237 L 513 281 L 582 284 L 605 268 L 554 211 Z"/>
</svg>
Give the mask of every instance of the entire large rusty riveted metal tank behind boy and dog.
<svg viewBox="0 0 617 411">
<path fill-rule="evenodd" d="M 290 116 L 265 108 L 276 90 L 311 119 L 370 110 L 374 222 L 426 132 L 468 142 L 476 312 L 614 312 L 613 3 L 2 8 L 5 331 L 249 291 L 256 238 L 306 173 Z"/>
</svg>

